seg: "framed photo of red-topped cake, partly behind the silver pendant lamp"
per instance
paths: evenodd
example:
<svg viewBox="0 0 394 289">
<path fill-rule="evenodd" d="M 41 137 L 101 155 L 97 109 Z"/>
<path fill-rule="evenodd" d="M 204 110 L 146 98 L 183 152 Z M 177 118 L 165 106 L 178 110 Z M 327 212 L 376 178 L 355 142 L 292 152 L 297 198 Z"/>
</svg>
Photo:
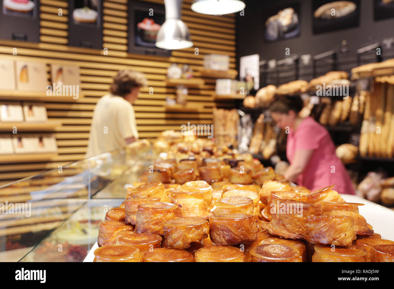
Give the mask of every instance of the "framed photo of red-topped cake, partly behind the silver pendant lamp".
<svg viewBox="0 0 394 289">
<path fill-rule="evenodd" d="M 157 33 L 165 21 L 164 5 L 129 1 L 128 52 L 170 56 L 171 50 L 156 47 Z"/>
</svg>

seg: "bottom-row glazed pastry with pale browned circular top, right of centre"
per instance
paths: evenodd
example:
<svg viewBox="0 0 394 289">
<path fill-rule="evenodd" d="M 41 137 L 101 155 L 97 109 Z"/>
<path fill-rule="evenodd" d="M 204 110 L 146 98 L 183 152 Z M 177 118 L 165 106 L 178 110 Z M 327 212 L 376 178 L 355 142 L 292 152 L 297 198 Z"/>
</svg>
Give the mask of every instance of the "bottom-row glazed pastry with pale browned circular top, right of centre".
<svg viewBox="0 0 394 289">
<path fill-rule="evenodd" d="M 281 244 L 264 244 L 253 247 L 251 262 L 302 262 L 299 251 Z"/>
</svg>

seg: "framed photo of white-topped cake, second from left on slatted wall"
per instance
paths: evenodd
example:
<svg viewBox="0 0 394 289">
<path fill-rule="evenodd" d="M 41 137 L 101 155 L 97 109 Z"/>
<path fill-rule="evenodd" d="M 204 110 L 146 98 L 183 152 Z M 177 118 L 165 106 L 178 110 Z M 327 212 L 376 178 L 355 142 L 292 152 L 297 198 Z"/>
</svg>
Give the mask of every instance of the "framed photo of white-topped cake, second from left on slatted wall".
<svg viewBox="0 0 394 289">
<path fill-rule="evenodd" d="M 102 49 L 103 0 L 69 0 L 69 45 Z"/>
</svg>

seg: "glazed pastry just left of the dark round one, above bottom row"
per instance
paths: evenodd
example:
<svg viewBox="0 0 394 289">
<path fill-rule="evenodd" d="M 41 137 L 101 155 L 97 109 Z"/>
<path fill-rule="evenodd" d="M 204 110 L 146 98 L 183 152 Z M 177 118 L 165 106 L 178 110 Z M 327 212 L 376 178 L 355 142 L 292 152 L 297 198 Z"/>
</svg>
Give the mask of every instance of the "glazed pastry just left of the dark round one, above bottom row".
<svg viewBox="0 0 394 289">
<path fill-rule="evenodd" d="M 171 248 L 186 249 L 191 243 L 201 242 L 208 237 L 209 224 L 203 219 L 180 218 L 164 223 L 163 234 Z"/>
</svg>

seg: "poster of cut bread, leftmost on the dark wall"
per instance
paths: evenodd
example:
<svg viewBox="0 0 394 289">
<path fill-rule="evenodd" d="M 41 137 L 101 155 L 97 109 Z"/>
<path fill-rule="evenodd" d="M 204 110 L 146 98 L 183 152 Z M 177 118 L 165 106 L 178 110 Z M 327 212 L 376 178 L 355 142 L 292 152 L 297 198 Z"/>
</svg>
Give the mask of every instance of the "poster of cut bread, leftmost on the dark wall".
<svg viewBox="0 0 394 289">
<path fill-rule="evenodd" d="M 264 40 L 266 42 L 299 36 L 301 30 L 299 2 L 279 7 L 273 6 L 264 14 Z"/>
</svg>

